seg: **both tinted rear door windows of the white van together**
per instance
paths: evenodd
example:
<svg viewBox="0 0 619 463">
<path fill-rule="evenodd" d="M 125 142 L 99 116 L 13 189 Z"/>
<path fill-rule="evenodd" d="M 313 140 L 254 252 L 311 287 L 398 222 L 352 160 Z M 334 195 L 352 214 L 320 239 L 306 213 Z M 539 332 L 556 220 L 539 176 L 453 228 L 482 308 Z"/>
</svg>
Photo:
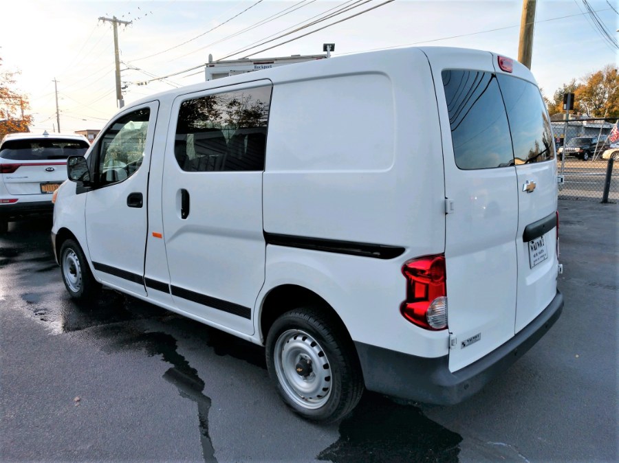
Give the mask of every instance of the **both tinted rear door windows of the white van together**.
<svg viewBox="0 0 619 463">
<path fill-rule="evenodd" d="M 488 169 L 554 157 L 539 89 L 490 72 L 442 71 L 453 154 L 460 169 Z"/>
</svg>

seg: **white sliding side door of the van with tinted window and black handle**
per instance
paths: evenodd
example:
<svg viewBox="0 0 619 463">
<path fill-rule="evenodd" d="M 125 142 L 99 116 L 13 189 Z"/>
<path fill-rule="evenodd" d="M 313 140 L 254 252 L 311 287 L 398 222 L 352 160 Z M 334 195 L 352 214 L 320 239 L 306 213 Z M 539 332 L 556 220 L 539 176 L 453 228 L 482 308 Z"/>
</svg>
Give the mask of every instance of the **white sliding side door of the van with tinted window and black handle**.
<svg viewBox="0 0 619 463">
<path fill-rule="evenodd" d="M 162 184 L 164 242 L 175 306 L 251 335 L 264 283 L 262 176 L 272 84 L 178 97 Z"/>
</svg>

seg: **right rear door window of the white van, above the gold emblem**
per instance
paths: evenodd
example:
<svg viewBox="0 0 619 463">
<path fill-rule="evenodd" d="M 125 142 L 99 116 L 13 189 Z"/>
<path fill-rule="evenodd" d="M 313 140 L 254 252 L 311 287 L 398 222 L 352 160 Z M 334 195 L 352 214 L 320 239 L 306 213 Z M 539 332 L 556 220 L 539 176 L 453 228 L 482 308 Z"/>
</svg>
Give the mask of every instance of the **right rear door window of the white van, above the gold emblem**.
<svg viewBox="0 0 619 463">
<path fill-rule="evenodd" d="M 516 164 L 554 159 L 552 131 L 546 106 L 534 84 L 499 75 L 508 113 Z"/>
</svg>

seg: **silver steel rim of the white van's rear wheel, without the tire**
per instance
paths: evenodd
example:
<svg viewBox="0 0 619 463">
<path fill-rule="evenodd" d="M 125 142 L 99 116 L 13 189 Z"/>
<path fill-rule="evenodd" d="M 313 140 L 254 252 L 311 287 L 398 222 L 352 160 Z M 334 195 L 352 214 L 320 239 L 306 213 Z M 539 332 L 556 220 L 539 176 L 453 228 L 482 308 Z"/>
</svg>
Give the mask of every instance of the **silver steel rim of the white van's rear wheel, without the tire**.
<svg viewBox="0 0 619 463">
<path fill-rule="evenodd" d="M 297 370 L 300 361 L 312 365 L 307 376 Z M 327 403 L 332 390 L 329 360 L 321 345 L 307 332 L 281 333 L 275 343 L 274 363 L 279 383 L 294 403 L 306 409 L 318 409 Z"/>
</svg>

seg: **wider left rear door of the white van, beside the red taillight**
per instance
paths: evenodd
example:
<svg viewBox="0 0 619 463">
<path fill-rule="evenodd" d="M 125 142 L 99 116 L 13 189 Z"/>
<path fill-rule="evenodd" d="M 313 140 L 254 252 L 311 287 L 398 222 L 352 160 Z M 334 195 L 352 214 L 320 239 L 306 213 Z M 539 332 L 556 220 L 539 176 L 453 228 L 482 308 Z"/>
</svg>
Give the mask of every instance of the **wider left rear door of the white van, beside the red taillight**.
<svg viewBox="0 0 619 463">
<path fill-rule="evenodd" d="M 445 166 L 449 368 L 514 336 L 518 180 L 492 54 L 425 49 L 436 84 Z"/>
</svg>

